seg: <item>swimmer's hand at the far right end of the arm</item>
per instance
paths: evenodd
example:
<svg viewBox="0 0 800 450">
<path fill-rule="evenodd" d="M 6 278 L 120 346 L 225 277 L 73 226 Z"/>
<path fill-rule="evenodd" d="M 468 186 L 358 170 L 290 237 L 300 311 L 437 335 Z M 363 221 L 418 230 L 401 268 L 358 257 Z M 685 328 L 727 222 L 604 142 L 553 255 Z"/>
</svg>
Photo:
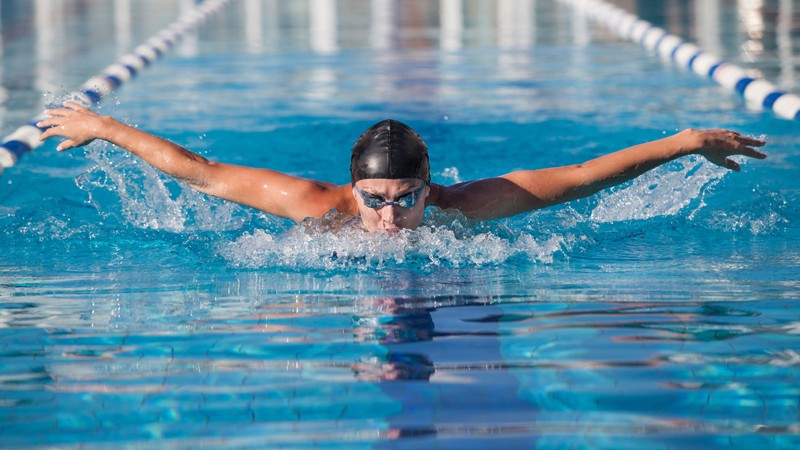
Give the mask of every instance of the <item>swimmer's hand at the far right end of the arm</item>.
<svg viewBox="0 0 800 450">
<path fill-rule="evenodd" d="M 683 140 L 682 148 L 686 154 L 703 155 L 712 163 L 738 172 L 739 164 L 730 159 L 734 155 L 743 155 L 749 158 L 764 159 L 766 154 L 756 150 L 756 147 L 766 145 L 765 141 L 742 136 L 730 130 L 693 130 L 688 129 L 678 133 L 677 137 Z"/>
</svg>

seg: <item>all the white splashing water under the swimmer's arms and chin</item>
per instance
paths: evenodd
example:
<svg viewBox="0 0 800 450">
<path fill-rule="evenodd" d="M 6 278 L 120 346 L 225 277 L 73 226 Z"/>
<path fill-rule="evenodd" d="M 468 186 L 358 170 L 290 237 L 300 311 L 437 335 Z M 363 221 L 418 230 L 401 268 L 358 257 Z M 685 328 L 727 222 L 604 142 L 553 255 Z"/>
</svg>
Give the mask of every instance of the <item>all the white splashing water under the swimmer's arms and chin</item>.
<svg viewBox="0 0 800 450">
<path fill-rule="evenodd" d="M 343 226 L 344 219 L 335 213 L 299 226 L 287 227 L 285 222 L 278 226 L 278 219 L 199 194 L 109 144 L 93 144 L 87 156 L 95 166 L 79 178 L 78 185 L 104 217 L 175 233 L 249 228 L 233 238 L 230 233 L 220 235 L 210 244 L 213 251 L 233 267 L 302 271 L 549 264 L 598 240 L 598 224 L 680 214 L 692 220 L 706 206 L 705 196 L 727 173 L 702 158 L 684 158 L 588 200 L 595 206 L 584 213 L 566 206 L 504 221 L 473 222 L 430 209 L 420 228 L 385 235 Z M 440 176 L 460 179 L 456 167 Z M 256 224 L 260 217 L 266 219 Z M 753 233 L 781 221 L 779 215 L 715 217 L 712 228 L 749 227 Z"/>
</svg>

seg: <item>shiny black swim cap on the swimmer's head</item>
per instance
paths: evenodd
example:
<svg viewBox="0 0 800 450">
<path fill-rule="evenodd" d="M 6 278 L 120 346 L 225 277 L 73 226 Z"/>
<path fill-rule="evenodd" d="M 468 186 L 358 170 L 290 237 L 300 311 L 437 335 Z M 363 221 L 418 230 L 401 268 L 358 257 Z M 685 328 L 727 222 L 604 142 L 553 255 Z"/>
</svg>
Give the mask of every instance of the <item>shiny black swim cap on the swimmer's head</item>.
<svg viewBox="0 0 800 450">
<path fill-rule="evenodd" d="M 384 120 L 371 126 L 353 145 L 350 179 L 417 178 L 431 182 L 428 147 L 408 125 Z"/>
</svg>

